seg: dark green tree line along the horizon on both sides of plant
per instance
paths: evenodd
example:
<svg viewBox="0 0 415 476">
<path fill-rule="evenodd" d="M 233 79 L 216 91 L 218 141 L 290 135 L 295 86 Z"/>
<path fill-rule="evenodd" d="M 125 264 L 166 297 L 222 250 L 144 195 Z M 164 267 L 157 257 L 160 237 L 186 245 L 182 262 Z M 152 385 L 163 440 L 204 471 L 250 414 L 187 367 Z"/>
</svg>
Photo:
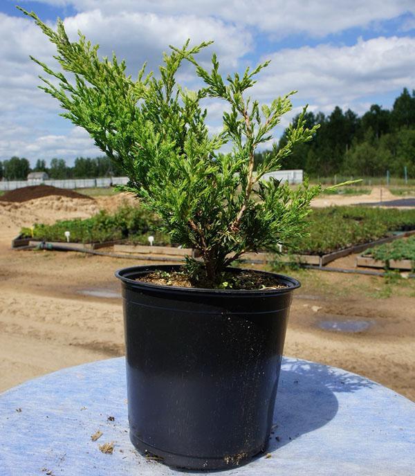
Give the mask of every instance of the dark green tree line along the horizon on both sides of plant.
<svg viewBox="0 0 415 476">
<path fill-rule="evenodd" d="M 298 116 L 293 120 L 296 125 Z M 282 169 L 302 169 L 312 177 L 392 176 L 415 177 L 415 91 L 405 88 L 391 110 L 372 104 L 359 117 L 348 109 L 335 107 L 328 116 L 306 113 L 306 125 L 320 125 L 313 140 L 296 145 L 293 154 L 282 160 Z M 278 147 L 287 142 L 288 129 L 279 139 Z M 255 154 L 257 163 L 266 151 Z M 50 165 L 39 159 L 33 169 L 26 158 L 12 157 L 0 161 L 0 179 L 26 180 L 29 172 L 47 172 L 50 178 L 95 178 L 120 176 L 122 170 L 106 157 L 78 157 L 73 167 L 63 158 L 53 158 Z"/>
</svg>

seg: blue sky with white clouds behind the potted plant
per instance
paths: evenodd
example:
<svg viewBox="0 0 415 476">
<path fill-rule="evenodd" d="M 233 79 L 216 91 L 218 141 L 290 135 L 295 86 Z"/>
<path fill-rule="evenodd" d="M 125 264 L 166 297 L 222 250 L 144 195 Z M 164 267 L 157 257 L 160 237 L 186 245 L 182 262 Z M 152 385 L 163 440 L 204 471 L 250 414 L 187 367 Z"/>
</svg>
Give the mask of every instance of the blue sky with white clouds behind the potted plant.
<svg viewBox="0 0 415 476">
<path fill-rule="evenodd" d="M 77 30 L 114 51 L 133 76 L 147 61 L 156 70 L 168 45 L 214 40 L 199 60 L 216 53 L 221 73 L 271 60 L 252 97 L 269 104 L 293 89 L 293 111 L 275 130 L 278 138 L 304 104 L 331 113 L 335 106 L 359 115 L 371 104 L 385 109 L 404 87 L 415 89 L 415 0 L 0 0 L 0 161 L 102 155 L 80 127 L 59 116 L 54 98 L 37 89 L 41 74 L 29 55 L 53 64 L 53 45 L 31 19 L 50 26 L 64 20 L 71 40 Z M 190 66 L 179 79 L 188 86 Z M 220 128 L 224 104 L 211 100 L 208 122 Z"/>
</svg>

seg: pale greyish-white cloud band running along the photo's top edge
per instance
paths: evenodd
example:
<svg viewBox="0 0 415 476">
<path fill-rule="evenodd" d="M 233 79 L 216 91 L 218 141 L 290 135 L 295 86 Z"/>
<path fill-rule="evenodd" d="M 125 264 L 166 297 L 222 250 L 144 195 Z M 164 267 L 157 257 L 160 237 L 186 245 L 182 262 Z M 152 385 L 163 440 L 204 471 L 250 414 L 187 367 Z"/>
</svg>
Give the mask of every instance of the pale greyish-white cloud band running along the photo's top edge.
<svg viewBox="0 0 415 476">
<path fill-rule="evenodd" d="M 415 13 L 413 0 L 44 0 L 57 6 L 72 5 L 79 11 L 99 8 L 114 12 L 156 12 L 171 15 L 215 17 L 234 24 L 255 26 L 277 37 L 306 33 L 324 37 L 347 28 L 366 27 L 405 12 Z"/>
</svg>

